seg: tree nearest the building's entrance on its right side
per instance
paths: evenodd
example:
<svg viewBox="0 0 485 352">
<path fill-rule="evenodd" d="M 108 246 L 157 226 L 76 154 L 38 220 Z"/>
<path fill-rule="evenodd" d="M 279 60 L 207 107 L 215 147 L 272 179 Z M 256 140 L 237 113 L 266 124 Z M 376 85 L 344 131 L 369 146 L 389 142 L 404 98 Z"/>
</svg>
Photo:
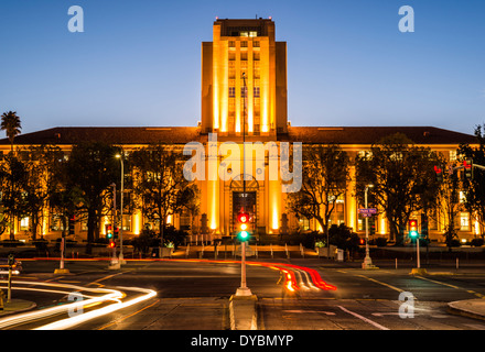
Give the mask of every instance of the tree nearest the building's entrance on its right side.
<svg viewBox="0 0 485 352">
<path fill-rule="evenodd" d="M 338 197 L 349 182 L 348 155 L 338 145 L 309 146 L 303 151 L 302 187 L 288 194 L 287 208 L 298 217 L 316 219 L 324 234 Z"/>
</svg>

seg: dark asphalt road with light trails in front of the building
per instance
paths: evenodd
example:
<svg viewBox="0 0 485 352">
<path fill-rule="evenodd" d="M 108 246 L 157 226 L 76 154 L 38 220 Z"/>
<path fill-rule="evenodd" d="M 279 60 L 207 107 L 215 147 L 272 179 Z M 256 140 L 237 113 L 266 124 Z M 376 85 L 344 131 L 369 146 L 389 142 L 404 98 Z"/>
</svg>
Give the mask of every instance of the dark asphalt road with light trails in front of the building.
<svg viewBox="0 0 485 352">
<path fill-rule="evenodd" d="M 280 271 L 248 265 L 248 287 L 258 296 L 259 330 L 485 330 L 485 321 L 446 310 L 450 301 L 485 296 L 482 266 L 438 267 L 430 271 L 432 275 L 417 277 L 403 267 L 364 271 L 358 265 L 313 258 L 274 262 L 314 268 L 337 289 L 317 289 L 303 280 L 291 293 L 282 285 Z M 54 261 L 24 261 L 23 266 L 14 285 L 31 280 L 157 292 L 154 298 L 72 328 L 78 330 L 228 330 L 229 297 L 240 285 L 237 263 L 128 261 L 121 270 L 110 271 L 106 261 L 67 261 L 69 275 L 53 275 L 58 266 Z M 305 276 L 302 271 L 294 273 L 297 279 Z M 123 292 L 128 298 L 139 295 Z M 62 305 L 66 295 L 13 292 L 14 298 L 33 300 L 43 309 Z M 31 328 L 19 324 L 10 329 Z"/>
</svg>

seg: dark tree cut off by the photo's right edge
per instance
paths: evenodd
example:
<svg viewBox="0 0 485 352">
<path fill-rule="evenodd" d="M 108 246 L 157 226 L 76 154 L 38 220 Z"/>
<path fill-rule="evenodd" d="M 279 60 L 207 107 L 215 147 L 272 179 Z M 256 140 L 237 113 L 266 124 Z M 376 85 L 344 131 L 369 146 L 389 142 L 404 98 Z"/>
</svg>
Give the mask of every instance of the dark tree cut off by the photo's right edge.
<svg viewBox="0 0 485 352">
<path fill-rule="evenodd" d="M 462 144 L 457 154 L 463 158 L 473 160 L 474 164 L 485 166 L 485 124 L 475 128 L 477 147 L 468 144 Z M 473 179 L 463 182 L 463 190 L 465 194 L 465 208 L 471 215 L 474 215 L 478 221 L 479 228 L 485 228 L 485 170 L 474 167 Z M 483 234 L 482 234 L 483 235 Z"/>
</svg>

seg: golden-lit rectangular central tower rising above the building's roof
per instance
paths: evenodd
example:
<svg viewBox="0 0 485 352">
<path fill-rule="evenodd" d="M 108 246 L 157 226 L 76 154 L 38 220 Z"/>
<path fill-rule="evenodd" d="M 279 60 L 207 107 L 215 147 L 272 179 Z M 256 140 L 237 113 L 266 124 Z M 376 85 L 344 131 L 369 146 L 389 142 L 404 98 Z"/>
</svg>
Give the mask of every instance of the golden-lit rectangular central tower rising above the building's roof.
<svg viewBox="0 0 485 352">
<path fill-rule="evenodd" d="M 274 41 L 274 22 L 217 19 L 202 43 L 202 133 L 270 136 L 287 120 L 287 43 Z"/>
</svg>

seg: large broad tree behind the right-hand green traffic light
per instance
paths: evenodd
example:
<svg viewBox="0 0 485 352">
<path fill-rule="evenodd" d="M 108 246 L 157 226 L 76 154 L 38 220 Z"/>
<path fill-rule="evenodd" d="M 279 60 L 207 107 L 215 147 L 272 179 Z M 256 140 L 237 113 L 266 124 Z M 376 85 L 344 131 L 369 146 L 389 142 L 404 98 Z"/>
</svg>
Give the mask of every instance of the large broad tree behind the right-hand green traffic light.
<svg viewBox="0 0 485 352">
<path fill-rule="evenodd" d="M 396 133 L 384 138 L 370 152 L 357 156 L 356 195 L 364 204 L 367 185 L 369 204 L 385 213 L 390 240 L 403 243 L 405 229 L 413 212 L 435 205 L 438 183 L 433 170 L 436 155 L 429 147 L 413 145 L 406 135 Z"/>
</svg>

